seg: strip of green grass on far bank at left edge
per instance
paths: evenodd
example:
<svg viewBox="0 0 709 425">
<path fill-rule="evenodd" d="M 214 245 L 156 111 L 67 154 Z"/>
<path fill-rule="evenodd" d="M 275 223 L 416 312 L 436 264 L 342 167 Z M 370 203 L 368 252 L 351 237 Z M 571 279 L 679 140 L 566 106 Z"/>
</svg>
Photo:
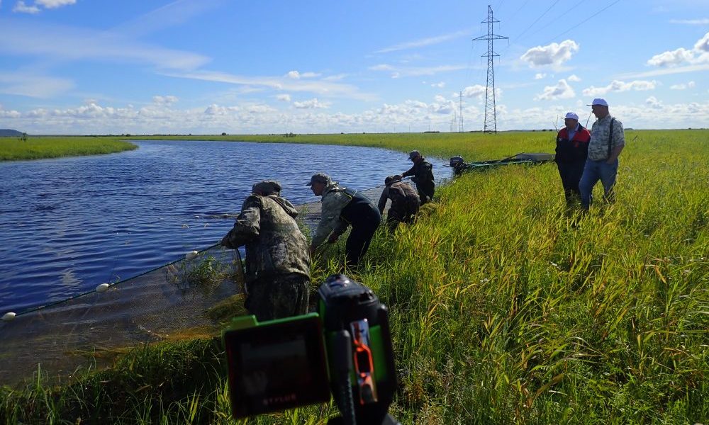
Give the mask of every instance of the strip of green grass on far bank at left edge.
<svg viewBox="0 0 709 425">
<path fill-rule="evenodd" d="M 0 161 L 73 157 L 77 155 L 111 154 L 137 146 L 119 137 L 32 137 L 26 141 L 16 137 L 0 137 Z"/>
</svg>

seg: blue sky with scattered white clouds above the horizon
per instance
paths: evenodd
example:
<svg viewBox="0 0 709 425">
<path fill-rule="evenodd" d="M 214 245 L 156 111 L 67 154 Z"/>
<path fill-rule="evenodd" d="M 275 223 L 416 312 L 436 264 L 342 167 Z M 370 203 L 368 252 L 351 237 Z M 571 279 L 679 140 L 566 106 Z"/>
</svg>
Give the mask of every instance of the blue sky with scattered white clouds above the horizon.
<svg viewBox="0 0 709 425">
<path fill-rule="evenodd" d="M 709 0 L 0 0 L 0 128 L 30 135 L 473 131 L 486 99 L 541 130 L 596 97 L 708 128 Z"/>
</svg>

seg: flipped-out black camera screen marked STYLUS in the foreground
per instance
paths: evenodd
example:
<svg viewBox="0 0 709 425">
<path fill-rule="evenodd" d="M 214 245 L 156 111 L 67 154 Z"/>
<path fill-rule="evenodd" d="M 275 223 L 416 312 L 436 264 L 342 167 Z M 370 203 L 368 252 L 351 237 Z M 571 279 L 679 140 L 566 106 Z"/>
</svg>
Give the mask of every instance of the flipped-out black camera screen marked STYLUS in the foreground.
<svg viewBox="0 0 709 425">
<path fill-rule="evenodd" d="M 328 402 L 323 333 L 316 315 L 225 332 L 233 415 Z"/>
</svg>

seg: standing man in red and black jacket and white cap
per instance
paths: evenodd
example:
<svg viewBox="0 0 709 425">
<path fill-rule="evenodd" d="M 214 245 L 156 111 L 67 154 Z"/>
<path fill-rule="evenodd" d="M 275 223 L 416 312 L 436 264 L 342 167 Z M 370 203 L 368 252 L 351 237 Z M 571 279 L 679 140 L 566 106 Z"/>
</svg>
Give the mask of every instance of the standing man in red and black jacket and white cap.
<svg viewBox="0 0 709 425">
<path fill-rule="evenodd" d="M 579 124 L 579 115 L 573 112 L 566 114 L 564 125 L 566 127 L 559 130 L 557 135 L 557 154 L 554 162 L 557 163 L 559 176 L 562 177 L 566 204 L 572 205 L 581 199 L 579 181 L 584 174 L 591 133 Z"/>
</svg>

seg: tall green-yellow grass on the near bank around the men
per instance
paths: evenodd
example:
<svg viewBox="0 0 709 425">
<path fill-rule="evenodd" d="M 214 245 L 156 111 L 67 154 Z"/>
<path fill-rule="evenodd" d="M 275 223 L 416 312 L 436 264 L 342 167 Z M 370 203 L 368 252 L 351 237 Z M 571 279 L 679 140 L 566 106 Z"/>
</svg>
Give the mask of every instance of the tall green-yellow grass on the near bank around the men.
<svg viewBox="0 0 709 425">
<path fill-rule="evenodd" d="M 549 132 L 365 136 L 313 142 L 468 160 L 554 144 Z M 627 140 L 617 202 L 588 215 L 565 211 L 553 164 L 506 166 L 462 176 L 415 225 L 376 235 L 352 277 L 390 307 L 401 383 L 391 412 L 402 423 L 709 421 L 709 131 Z M 313 288 L 333 271 L 319 259 Z M 319 424 L 334 413 L 307 407 L 249 423 Z M 233 423 L 219 344 L 145 346 L 65 385 L 37 378 L 0 391 L 5 423 L 79 417 Z"/>
</svg>

